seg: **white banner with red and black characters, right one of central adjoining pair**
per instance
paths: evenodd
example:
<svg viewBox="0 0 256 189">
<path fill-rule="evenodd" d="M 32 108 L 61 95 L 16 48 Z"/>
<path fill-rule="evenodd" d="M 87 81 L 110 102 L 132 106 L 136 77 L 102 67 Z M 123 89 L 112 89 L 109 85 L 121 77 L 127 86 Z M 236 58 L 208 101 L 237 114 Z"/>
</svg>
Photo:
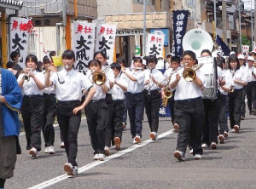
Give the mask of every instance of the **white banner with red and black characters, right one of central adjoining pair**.
<svg viewBox="0 0 256 189">
<path fill-rule="evenodd" d="M 116 25 L 100 24 L 96 29 L 96 51 L 107 55 L 108 63 L 113 62 Z"/>
</svg>

